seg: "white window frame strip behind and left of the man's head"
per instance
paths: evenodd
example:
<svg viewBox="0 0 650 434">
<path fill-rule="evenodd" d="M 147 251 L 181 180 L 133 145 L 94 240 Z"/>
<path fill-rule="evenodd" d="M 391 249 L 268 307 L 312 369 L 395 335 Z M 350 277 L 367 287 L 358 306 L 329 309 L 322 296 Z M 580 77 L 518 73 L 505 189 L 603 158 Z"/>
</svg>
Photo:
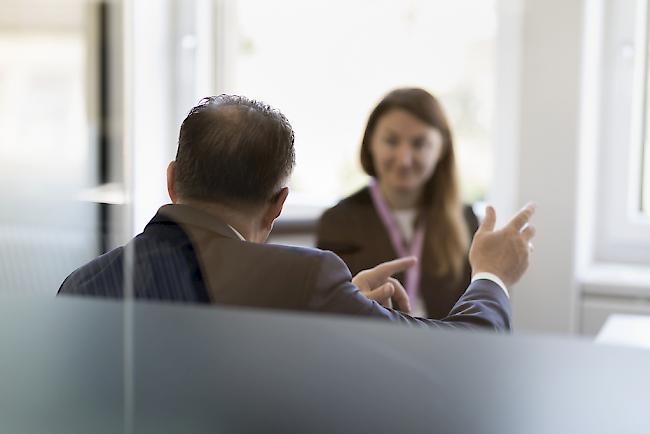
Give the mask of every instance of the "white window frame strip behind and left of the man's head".
<svg viewBox="0 0 650 434">
<path fill-rule="evenodd" d="M 180 124 L 214 93 L 215 1 L 123 1 L 125 240 L 169 202 L 165 173 Z"/>
</svg>

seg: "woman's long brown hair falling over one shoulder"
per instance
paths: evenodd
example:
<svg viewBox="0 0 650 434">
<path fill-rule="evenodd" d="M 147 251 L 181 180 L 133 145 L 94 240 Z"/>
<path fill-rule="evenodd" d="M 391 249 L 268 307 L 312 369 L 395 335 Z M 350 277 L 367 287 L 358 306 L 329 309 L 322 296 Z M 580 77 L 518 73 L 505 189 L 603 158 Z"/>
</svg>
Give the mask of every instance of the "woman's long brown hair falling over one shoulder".
<svg viewBox="0 0 650 434">
<path fill-rule="evenodd" d="M 419 88 L 395 89 L 386 95 L 368 118 L 361 142 L 361 166 L 368 175 L 377 176 L 370 150 L 371 140 L 378 120 L 395 109 L 407 111 L 442 134 L 443 150 L 433 174 L 424 185 L 419 218 L 425 221 L 426 243 L 434 258 L 434 263 L 426 266 L 431 267 L 436 276 L 451 274 L 459 277 L 466 262 L 470 234 L 463 218 L 451 130 L 438 100 Z"/>
</svg>

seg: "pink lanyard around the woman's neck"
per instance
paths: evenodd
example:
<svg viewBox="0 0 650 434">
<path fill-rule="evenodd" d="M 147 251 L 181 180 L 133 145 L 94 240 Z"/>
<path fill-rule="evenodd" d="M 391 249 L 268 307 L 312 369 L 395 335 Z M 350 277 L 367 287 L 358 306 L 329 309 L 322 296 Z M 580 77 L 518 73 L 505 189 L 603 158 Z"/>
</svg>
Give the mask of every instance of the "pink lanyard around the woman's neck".
<svg viewBox="0 0 650 434">
<path fill-rule="evenodd" d="M 418 264 L 415 267 L 411 267 L 406 270 L 406 282 L 405 289 L 409 297 L 415 296 L 419 290 L 420 286 L 420 264 L 422 259 L 422 246 L 424 245 L 424 225 L 418 224 L 415 228 L 415 233 L 413 234 L 413 240 L 411 241 L 410 250 L 406 250 L 406 241 L 402 236 L 402 232 L 395 221 L 395 216 L 388 209 L 388 204 L 384 200 L 379 187 L 377 187 L 377 182 L 373 179 L 370 182 L 370 195 L 372 196 L 372 202 L 375 205 L 375 209 L 381 218 L 384 227 L 388 231 L 388 236 L 390 241 L 393 244 L 393 248 L 400 257 L 404 256 L 415 256 L 418 258 Z"/>
</svg>

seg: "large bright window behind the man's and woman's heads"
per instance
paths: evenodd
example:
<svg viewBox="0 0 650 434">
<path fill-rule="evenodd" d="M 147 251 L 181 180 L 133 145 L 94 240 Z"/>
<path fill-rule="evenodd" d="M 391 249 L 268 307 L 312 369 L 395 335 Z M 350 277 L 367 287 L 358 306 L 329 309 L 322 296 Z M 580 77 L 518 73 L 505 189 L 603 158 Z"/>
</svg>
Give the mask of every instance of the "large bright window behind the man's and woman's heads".
<svg viewBox="0 0 650 434">
<path fill-rule="evenodd" d="M 465 199 L 484 196 L 495 1 L 238 0 L 230 7 L 228 25 L 236 24 L 221 32 L 228 43 L 219 91 L 265 100 L 292 122 L 297 202 L 327 205 L 366 182 L 358 150 L 367 116 L 399 86 L 441 99 Z"/>
</svg>

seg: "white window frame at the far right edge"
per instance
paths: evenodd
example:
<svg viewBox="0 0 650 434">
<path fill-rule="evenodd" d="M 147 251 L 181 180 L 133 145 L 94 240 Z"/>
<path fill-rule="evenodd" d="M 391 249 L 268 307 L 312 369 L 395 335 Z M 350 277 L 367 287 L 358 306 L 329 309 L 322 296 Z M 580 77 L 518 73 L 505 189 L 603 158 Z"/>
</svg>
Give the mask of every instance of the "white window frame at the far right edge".
<svg viewBox="0 0 650 434">
<path fill-rule="evenodd" d="M 587 2 L 590 3 L 590 2 Z M 595 6 L 600 3 L 599 6 Z M 640 210 L 645 140 L 649 0 L 594 2 L 601 35 L 598 95 L 590 128 L 596 140 L 593 262 L 650 264 L 650 219 Z M 589 108 L 586 108 L 589 109 Z M 579 222 L 580 224 L 581 222 Z"/>
</svg>

